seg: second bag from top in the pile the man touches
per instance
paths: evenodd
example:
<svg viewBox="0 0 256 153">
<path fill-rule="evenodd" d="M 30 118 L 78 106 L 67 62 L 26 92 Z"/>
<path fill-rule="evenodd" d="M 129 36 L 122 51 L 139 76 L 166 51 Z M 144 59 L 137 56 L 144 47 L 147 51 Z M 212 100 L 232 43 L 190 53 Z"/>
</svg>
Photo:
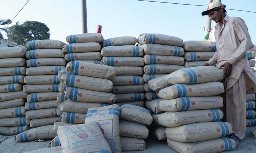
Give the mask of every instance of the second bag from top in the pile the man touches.
<svg viewBox="0 0 256 153">
<path fill-rule="evenodd" d="M 174 84 L 159 91 L 162 99 L 174 99 L 179 97 L 215 96 L 224 92 L 224 86 L 220 82 L 207 82 L 202 84 Z"/>
</svg>

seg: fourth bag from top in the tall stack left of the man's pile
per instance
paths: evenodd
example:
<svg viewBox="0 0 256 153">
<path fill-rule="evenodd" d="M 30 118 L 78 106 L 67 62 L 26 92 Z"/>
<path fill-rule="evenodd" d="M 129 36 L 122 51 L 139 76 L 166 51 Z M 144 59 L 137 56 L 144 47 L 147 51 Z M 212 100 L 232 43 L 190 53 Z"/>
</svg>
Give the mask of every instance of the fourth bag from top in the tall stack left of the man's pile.
<svg viewBox="0 0 256 153">
<path fill-rule="evenodd" d="M 170 74 L 178 69 L 183 69 L 181 65 L 169 65 L 169 64 L 150 64 L 143 67 L 144 73 L 147 74 Z"/>
</svg>

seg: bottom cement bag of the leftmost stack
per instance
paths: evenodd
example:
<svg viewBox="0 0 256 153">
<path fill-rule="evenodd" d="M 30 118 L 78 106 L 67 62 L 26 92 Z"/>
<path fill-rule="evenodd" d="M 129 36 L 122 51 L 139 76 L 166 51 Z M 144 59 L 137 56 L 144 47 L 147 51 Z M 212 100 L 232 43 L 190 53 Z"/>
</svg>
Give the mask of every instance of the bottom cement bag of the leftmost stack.
<svg viewBox="0 0 256 153">
<path fill-rule="evenodd" d="M 0 127 L 1 135 L 17 135 L 21 132 L 27 131 L 29 126 L 17 126 L 17 127 Z"/>
</svg>

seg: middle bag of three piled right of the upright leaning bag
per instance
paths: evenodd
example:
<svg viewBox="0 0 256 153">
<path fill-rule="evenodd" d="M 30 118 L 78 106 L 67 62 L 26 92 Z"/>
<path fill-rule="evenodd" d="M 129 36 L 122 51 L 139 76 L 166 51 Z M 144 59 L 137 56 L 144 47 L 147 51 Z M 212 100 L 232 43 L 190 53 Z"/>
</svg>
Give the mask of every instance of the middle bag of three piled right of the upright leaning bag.
<svg viewBox="0 0 256 153">
<path fill-rule="evenodd" d="M 120 120 L 120 136 L 147 139 L 149 130 L 144 124 L 131 122 L 128 120 Z"/>
</svg>

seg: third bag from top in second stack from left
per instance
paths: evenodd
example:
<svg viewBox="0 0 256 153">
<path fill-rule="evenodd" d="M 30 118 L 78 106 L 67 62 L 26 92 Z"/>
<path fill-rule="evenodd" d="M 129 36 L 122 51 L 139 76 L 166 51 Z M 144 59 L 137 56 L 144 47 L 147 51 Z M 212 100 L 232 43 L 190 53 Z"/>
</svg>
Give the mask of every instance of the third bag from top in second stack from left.
<svg viewBox="0 0 256 153">
<path fill-rule="evenodd" d="M 63 58 L 37 58 L 27 60 L 27 67 L 34 66 L 65 66 L 66 61 Z"/>
</svg>

